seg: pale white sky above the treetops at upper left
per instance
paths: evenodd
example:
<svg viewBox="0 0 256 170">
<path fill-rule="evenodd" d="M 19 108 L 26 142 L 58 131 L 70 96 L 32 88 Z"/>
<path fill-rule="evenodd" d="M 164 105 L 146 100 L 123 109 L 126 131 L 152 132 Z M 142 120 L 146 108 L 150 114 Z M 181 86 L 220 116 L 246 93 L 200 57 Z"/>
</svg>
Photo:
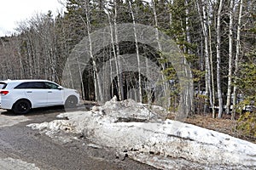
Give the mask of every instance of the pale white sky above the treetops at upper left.
<svg viewBox="0 0 256 170">
<path fill-rule="evenodd" d="M 0 0 L 0 37 L 15 32 L 20 21 L 29 20 L 35 14 L 47 14 L 51 10 L 55 15 L 57 11 L 63 12 L 63 8 L 60 0 Z"/>
</svg>

